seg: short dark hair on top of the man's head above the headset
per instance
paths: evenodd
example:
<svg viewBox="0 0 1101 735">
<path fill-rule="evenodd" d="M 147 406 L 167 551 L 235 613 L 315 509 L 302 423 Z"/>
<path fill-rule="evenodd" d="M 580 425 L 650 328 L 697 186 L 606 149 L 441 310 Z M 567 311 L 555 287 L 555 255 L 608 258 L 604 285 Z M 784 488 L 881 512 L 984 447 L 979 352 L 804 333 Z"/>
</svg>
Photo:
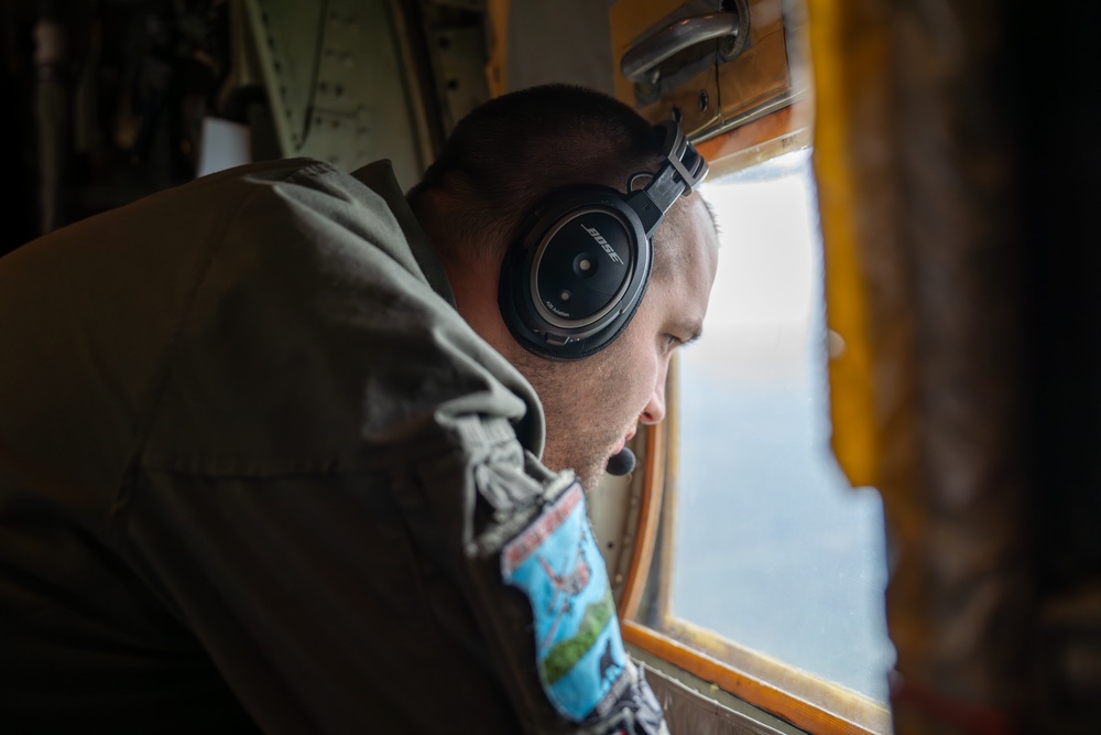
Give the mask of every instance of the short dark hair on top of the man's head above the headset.
<svg viewBox="0 0 1101 735">
<path fill-rule="evenodd" d="M 656 172 L 659 144 L 653 126 L 614 97 L 541 85 L 495 97 L 462 118 L 406 197 L 416 210 L 424 192 L 442 190 L 455 241 L 509 244 L 524 215 L 552 192 L 580 184 L 622 192 L 632 174 Z"/>
</svg>

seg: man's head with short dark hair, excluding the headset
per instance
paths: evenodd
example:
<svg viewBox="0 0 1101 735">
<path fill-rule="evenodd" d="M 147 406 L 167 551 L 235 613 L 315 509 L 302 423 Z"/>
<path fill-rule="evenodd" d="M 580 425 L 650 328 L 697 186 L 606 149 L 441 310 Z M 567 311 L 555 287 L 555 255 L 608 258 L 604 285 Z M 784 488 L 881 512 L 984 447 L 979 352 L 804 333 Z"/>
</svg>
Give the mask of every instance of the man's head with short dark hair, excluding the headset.
<svg viewBox="0 0 1101 735">
<path fill-rule="evenodd" d="M 700 197 L 682 198 L 654 236 L 653 272 L 625 331 L 578 361 L 525 349 L 498 307 L 498 279 L 525 216 L 548 194 L 578 185 L 625 192 L 636 173 L 665 163 L 659 137 L 611 97 L 552 85 L 491 100 L 456 127 L 444 153 L 410 192 L 439 251 L 459 312 L 527 378 L 543 402 L 543 461 L 574 468 L 587 487 L 639 421 L 665 414 L 673 348 L 699 333 L 715 278 L 717 237 Z"/>
</svg>

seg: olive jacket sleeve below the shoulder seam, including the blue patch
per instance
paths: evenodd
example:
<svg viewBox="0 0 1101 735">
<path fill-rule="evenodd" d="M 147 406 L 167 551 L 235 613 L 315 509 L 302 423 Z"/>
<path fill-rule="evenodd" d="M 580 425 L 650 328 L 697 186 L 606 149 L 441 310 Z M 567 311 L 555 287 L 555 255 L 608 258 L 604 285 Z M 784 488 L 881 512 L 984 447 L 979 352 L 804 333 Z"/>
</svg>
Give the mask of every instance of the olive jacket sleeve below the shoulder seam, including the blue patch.
<svg viewBox="0 0 1101 735">
<path fill-rule="evenodd" d="M 499 421 L 369 471 L 146 468 L 128 558 L 269 733 L 666 732 L 584 491 Z"/>
</svg>

